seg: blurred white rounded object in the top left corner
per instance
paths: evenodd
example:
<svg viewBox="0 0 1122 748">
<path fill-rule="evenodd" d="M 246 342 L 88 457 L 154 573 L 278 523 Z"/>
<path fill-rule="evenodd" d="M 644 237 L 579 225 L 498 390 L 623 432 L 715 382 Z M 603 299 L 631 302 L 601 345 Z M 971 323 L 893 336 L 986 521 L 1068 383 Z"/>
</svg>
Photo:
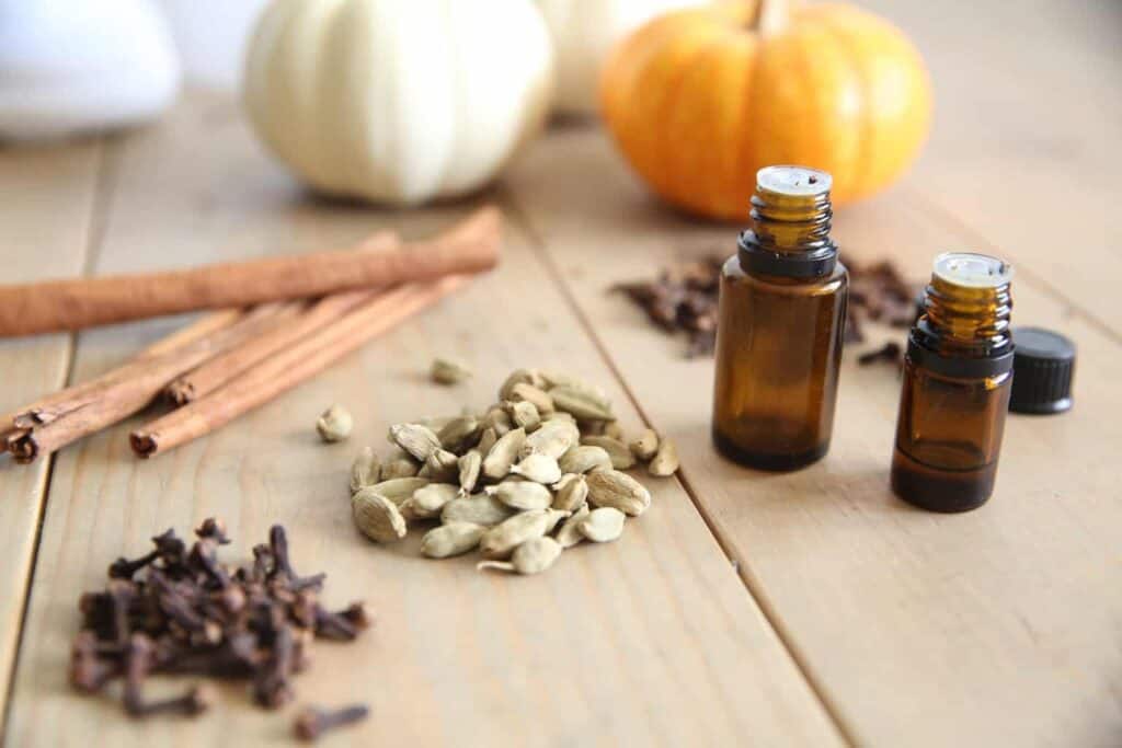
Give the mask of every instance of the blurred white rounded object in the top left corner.
<svg viewBox="0 0 1122 748">
<path fill-rule="evenodd" d="M 0 0 L 0 140 L 151 120 L 178 81 L 149 0 Z"/>
</svg>

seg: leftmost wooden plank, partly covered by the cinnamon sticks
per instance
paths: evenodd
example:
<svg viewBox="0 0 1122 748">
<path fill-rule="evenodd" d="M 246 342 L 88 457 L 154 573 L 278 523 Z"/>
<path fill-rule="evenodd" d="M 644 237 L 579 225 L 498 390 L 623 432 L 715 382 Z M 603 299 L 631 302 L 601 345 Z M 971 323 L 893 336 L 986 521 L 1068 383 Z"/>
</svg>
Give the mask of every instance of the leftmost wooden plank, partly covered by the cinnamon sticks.
<svg viewBox="0 0 1122 748">
<path fill-rule="evenodd" d="M 85 259 L 102 146 L 0 149 L 3 283 L 76 275 Z M 68 335 L 0 342 L 0 413 L 61 387 Z M 0 458 L 0 711 L 7 703 L 49 464 Z"/>
</svg>

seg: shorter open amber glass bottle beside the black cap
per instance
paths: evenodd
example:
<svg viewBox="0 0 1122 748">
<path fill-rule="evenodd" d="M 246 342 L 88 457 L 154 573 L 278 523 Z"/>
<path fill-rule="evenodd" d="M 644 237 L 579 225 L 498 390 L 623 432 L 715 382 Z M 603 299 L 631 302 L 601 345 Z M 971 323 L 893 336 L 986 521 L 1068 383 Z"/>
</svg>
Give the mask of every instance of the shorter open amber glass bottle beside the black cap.
<svg viewBox="0 0 1122 748">
<path fill-rule="evenodd" d="M 1012 268 L 971 252 L 935 260 L 912 327 L 892 458 L 892 490 L 932 511 L 990 498 L 1013 384 Z"/>
</svg>

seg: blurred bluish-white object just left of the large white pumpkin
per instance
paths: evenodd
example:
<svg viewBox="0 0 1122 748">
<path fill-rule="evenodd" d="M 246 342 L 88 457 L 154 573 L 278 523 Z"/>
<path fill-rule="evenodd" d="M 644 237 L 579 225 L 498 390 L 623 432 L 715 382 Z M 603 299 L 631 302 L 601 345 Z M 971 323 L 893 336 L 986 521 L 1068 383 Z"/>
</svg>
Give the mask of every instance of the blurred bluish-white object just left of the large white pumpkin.
<svg viewBox="0 0 1122 748">
<path fill-rule="evenodd" d="M 212 89 L 238 90 L 249 35 L 268 0 L 160 0 L 160 4 L 184 77 Z"/>
</svg>

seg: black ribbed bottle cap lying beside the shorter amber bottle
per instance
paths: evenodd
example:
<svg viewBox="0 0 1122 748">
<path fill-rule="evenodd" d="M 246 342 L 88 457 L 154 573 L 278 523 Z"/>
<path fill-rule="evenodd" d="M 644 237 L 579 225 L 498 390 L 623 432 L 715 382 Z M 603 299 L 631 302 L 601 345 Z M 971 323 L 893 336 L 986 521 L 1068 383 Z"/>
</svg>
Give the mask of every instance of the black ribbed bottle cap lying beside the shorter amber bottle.
<svg viewBox="0 0 1122 748">
<path fill-rule="evenodd" d="M 1042 327 L 1014 327 L 1013 391 L 1009 409 L 1046 415 L 1072 407 L 1075 343 Z"/>
</svg>

